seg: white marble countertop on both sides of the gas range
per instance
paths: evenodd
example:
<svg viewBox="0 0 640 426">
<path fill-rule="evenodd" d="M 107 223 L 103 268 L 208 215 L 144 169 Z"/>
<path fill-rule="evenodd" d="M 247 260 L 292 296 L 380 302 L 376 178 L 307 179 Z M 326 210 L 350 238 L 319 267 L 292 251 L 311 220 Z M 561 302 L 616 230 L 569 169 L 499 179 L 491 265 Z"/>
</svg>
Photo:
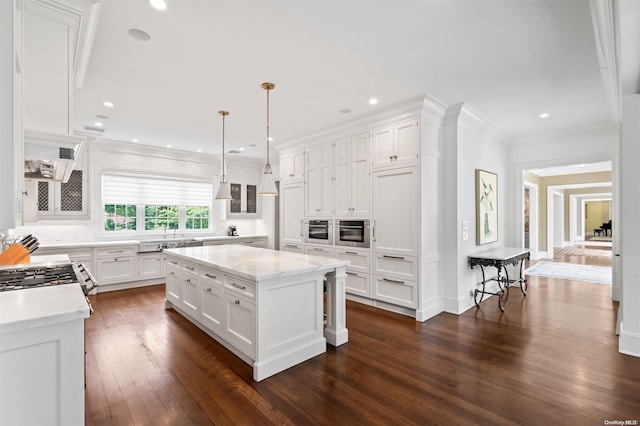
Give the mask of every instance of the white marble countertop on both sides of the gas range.
<svg viewBox="0 0 640 426">
<path fill-rule="evenodd" d="M 68 263 L 66 255 L 33 256 L 30 265 Z M 0 334 L 89 316 L 80 284 L 0 292 Z"/>
</svg>

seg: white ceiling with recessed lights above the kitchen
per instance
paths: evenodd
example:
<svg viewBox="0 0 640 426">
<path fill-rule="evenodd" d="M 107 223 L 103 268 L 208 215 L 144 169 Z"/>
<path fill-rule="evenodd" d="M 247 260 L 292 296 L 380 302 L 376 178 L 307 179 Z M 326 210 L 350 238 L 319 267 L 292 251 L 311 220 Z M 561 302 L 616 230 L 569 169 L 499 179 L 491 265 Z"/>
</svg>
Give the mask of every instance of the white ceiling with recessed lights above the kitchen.
<svg viewBox="0 0 640 426">
<path fill-rule="evenodd" d="M 74 112 L 105 139 L 219 154 L 225 109 L 228 149 L 263 158 L 265 81 L 276 145 L 426 94 L 513 138 L 611 117 L 586 0 L 100 4 Z"/>
</svg>

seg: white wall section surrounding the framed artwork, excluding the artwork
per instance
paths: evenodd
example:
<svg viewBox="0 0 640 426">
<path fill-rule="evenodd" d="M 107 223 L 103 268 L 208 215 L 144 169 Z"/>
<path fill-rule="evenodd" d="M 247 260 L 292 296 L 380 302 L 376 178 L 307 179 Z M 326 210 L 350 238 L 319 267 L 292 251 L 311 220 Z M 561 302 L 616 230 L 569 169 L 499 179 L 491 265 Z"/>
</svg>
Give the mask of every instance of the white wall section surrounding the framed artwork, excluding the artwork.
<svg viewBox="0 0 640 426">
<path fill-rule="evenodd" d="M 447 110 L 443 130 L 443 285 L 447 312 L 459 314 L 474 306 L 471 292 L 482 275 L 478 268 L 469 269 L 468 256 L 508 245 L 506 143 L 506 136 L 470 106 L 458 104 Z M 476 169 L 498 175 L 498 241 L 484 245 L 476 244 Z M 468 224 L 466 230 L 463 223 Z M 468 234 L 467 240 L 463 240 L 463 233 Z"/>
</svg>

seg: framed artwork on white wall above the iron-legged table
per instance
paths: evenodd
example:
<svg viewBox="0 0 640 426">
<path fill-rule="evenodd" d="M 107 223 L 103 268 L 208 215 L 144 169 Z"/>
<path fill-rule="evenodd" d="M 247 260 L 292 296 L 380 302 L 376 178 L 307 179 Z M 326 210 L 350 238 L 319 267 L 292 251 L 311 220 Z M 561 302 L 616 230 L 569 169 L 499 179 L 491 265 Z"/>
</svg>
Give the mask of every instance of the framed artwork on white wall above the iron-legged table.
<svg viewBox="0 0 640 426">
<path fill-rule="evenodd" d="M 476 169 L 476 244 L 498 241 L 498 175 Z"/>
</svg>

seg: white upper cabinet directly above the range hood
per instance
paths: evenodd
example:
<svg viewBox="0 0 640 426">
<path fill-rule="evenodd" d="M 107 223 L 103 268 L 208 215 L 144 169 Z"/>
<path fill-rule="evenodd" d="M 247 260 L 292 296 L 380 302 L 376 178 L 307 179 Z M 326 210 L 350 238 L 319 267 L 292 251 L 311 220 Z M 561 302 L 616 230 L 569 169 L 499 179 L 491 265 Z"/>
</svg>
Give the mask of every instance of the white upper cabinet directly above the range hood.
<svg viewBox="0 0 640 426">
<path fill-rule="evenodd" d="M 82 12 L 45 0 L 26 0 L 24 8 L 24 128 L 71 134 Z"/>
</svg>

